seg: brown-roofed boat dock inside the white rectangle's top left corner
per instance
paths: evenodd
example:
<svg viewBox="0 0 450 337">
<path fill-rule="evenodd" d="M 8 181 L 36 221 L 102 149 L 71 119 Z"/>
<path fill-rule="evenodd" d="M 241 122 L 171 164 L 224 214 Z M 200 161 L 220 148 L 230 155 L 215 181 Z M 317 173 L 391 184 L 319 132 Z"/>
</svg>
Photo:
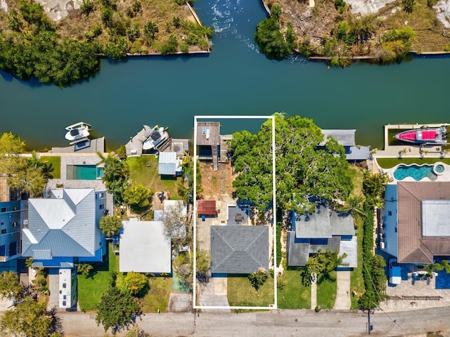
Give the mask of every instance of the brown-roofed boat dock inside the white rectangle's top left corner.
<svg viewBox="0 0 450 337">
<path fill-rule="evenodd" d="M 197 133 L 198 159 L 212 161 L 212 169 L 219 169 L 220 123 L 217 121 L 198 121 Z"/>
</svg>

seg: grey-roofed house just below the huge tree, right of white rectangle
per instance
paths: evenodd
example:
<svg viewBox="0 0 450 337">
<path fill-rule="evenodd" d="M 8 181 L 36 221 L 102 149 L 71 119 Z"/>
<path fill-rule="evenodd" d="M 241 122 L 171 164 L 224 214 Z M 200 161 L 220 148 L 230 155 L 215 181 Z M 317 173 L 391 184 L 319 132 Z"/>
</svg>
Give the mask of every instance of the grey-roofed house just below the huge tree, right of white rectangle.
<svg viewBox="0 0 450 337">
<path fill-rule="evenodd" d="M 288 265 L 302 267 L 311 254 L 338 250 L 346 267 L 357 267 L 357 239 L 353 218 L 349 214 L 330 211 L 318 205 L 314 213 L 293 212 L 291 230 L 288 231 Z"/>
</svg>

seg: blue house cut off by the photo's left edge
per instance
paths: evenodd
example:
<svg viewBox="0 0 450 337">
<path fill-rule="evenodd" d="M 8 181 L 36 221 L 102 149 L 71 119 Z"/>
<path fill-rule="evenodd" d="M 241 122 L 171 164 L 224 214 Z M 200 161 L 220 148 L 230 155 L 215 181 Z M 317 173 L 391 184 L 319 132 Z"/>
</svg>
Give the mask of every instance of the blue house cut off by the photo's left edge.
<svg viewBox="0 0 450 337">
<path fill-rule="evenodd" d="M 20 230 L 27 223 L 26 211 L 27 201 L 0 202 L 0 271 L 17 270 L 15 259 L 21 256 Z"/>
</svg>

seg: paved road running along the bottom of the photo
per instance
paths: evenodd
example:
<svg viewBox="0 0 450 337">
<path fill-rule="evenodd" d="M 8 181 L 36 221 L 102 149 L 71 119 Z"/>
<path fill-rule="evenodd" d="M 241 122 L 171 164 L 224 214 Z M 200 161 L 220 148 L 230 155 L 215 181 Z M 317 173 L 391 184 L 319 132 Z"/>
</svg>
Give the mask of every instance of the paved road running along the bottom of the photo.
<svg viewBox="0 0 450 337">
<path fill-rule="evenodd" d="M 411 336 L 441 330 L 450 336 L 450 307 L 409 312 L 375 311 L 371 315 L 373 336 Z M 103 336 L 95 314 L 60 313 L 65 336 Z M 153 337 L 244 337 L 244 336 L 365 336 L 367 315 L 354 311 L 274 310 L 239 314 L 191 313 L 146 314 L 137 321 Z M 119 336 L 123 336 L 122 333 Z M 417 335 L 421 336 L 421 335 Z M 423 335 L 425 336 L 425 335 Z"/>
</svg>

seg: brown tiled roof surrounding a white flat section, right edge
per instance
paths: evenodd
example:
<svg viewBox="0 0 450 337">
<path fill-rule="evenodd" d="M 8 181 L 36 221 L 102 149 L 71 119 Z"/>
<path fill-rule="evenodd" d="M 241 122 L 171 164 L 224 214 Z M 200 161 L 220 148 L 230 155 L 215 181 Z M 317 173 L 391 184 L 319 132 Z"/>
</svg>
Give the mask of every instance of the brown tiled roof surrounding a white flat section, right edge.
<svg viewBox="0 0 450 337">
<path fill-rule="evenodd" d="M 450 182 L 397 184 L 399 263 L 432 263 L 434 256 L 450 255 L 450 237 L 423 236 L 422 201 L 443 199 L 450 206 Z"/>
</svg>

